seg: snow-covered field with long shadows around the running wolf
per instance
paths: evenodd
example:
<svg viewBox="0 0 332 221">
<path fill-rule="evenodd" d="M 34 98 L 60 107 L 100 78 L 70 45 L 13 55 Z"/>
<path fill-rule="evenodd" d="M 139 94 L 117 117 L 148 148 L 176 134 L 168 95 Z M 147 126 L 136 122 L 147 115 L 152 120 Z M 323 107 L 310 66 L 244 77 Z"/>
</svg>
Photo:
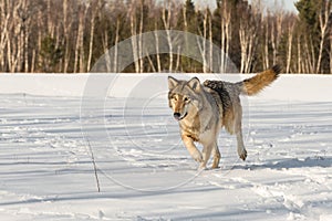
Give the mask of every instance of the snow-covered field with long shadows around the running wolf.
<svg viewBox="0 0 332 221">
<path fill-rule="evenodd" d="M 166 76 L 0 75 L 0 220 L 332 220 L 331 76 L 242 97 L 248 160 L 222 130 L 220 169 L 205 171 Z"/>
</svg>

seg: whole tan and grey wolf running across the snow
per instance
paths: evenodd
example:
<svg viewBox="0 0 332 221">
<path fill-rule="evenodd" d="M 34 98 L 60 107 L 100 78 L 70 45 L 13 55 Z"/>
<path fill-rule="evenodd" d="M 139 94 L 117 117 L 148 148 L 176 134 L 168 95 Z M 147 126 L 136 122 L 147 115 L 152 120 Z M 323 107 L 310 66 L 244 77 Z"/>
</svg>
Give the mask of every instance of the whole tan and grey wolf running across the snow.
<svg viewBox="0 0 332 221">
<path fill-rule="evenodd" d="M 238 83 L 205 81 L 197 77 L 179 81 L 168 77 L 168 102 L 178 120 L 181 139 L 191 157 L 206 165 L 214 154 L 212 168 L 218 168 L 220 152 L 217 145 L 219 130 L 225 127 L 237 137 L 237 150 L 242 160 L 247 150 L 242 139 L 242 107 L 239 95 L 256 95 L 278 78 L 281 69 L 276 65 L 270 70 Z M 203 145 L 200 152 L 195 141 Z"/>
</svg>

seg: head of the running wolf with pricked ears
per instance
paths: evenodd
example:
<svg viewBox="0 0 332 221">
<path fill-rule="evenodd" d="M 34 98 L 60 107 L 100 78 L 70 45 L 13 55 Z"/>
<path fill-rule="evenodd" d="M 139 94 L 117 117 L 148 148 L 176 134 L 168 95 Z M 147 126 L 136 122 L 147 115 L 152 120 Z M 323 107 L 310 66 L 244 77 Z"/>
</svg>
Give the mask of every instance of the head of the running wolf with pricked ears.
<svg viewBox="0 0 332 221">
<path fill-rule="evenodd" d="M 203 86 L 197 77 L 179 81 L 168 76 L 168 104 L 175 119 L 181 120 L 187 116 L 195 116 L 201 108 Z"/>
</svg>

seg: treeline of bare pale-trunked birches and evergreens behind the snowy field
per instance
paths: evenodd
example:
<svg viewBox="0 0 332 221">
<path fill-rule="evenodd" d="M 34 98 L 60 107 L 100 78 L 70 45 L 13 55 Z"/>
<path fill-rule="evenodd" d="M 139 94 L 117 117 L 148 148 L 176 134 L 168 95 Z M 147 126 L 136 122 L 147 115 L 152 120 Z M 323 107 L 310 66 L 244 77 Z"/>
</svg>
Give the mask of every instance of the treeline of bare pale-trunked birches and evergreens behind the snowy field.
<svg viewBox="0 0 332 221">
<path fill-rule="evenodd" d="M 178 30 L 214 42 L 241 73 L 276 63 L 286 73 L 332 73 L 332 0 L 299 0 L 298 13 L 260 0 L 216 1 L 211 10 L 191 0 L 0 0 L 0 72 L 85 73 L 125 39 Z M 124 72 L 163 70 L 210 71 L 174 53 L 144 57 Z"/>
</svg>

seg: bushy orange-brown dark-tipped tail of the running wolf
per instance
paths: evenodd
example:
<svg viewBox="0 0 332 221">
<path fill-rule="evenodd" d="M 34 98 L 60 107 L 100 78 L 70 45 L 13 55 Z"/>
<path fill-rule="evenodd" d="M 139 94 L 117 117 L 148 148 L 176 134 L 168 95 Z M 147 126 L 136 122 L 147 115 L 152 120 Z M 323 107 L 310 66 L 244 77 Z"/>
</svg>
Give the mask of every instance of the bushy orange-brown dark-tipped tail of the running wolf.
<svg viewBox="0 0 332 221">
<path fill-rule="evenodd" d="M 281 67 L 279 65 L 274 65 L 267 71 L 258 73 L 253 77 L 239 82 L 238 84 L 241 88 L 241 94 L 246 94 L 249 96 L 258 94 L 264 87 L 274 82 L 278 78 L 280 72 Z"/>
</svg>

